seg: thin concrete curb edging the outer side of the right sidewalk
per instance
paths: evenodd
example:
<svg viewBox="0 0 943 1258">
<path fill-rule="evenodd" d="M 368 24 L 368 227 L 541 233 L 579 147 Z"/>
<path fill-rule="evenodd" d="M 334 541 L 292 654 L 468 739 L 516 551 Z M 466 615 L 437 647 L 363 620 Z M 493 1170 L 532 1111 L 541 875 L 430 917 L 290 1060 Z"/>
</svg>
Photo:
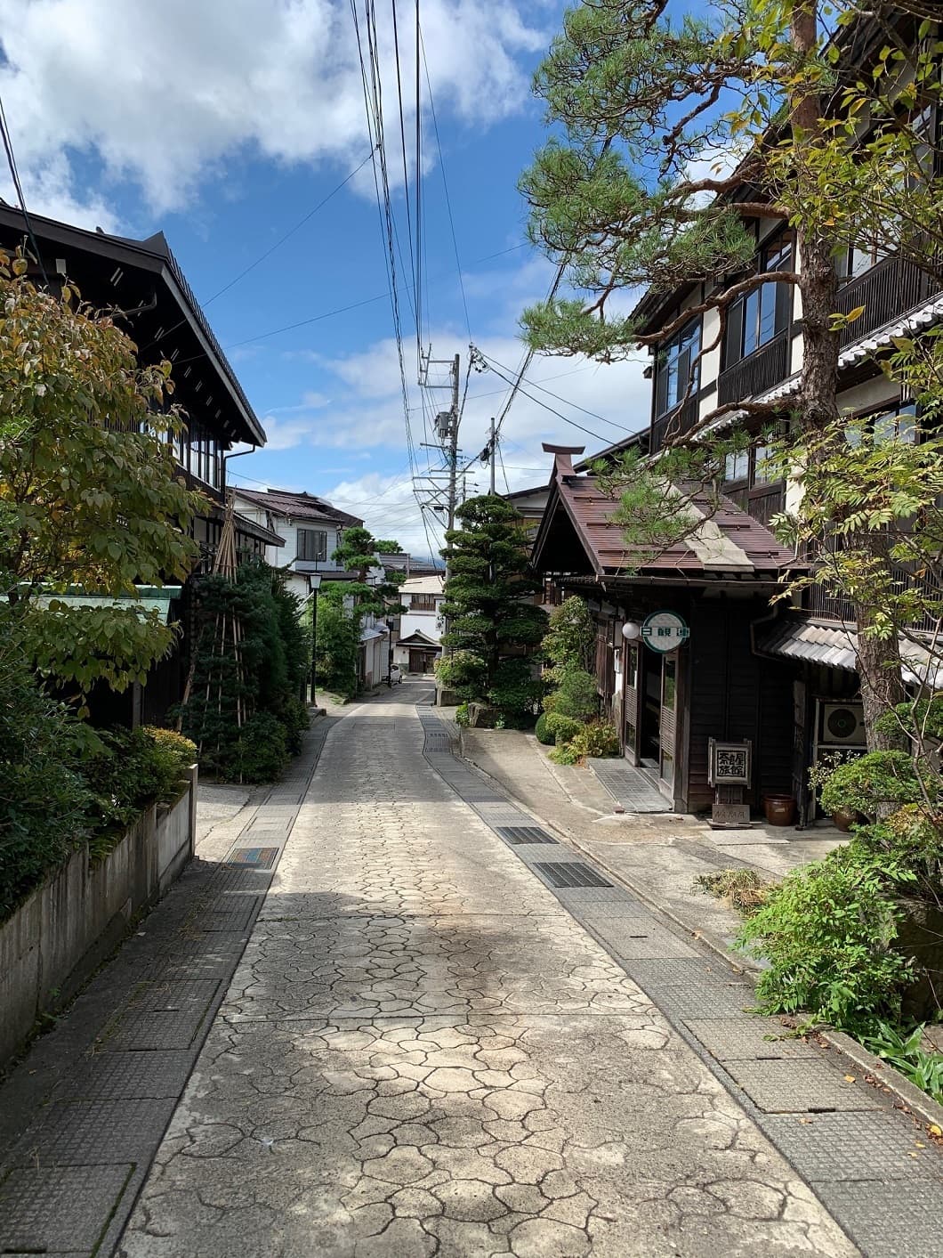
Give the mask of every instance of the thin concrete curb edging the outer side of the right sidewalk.
<svg viewBox="0 0 943 1258">
<path fill-rule="evenodd" d="M 586 848 L 578 839 L 575 839 L 572 834 L 556 825 L 553 821 L 542 816 L 539 813 L 534 811 L 528 804 L 522 799 L 518 799 L 513 791 L 509 791 L 499 781 L 490 776 L 484 769 L 469 759 L 464 754 L 461 728 L 459 727 L 459 754 L 465 764 L 470 765 L 475 772 L 480 774 L 495 790 L 500 791 L 508 799 L 510 799 L 518 808 L 529 813 L 536 820 L 541 823 L 546 829 L 551 830 L 553 834 L 558 834 L 565 843 L 577 850 L 581 855 L 585 855 L 588 860 L 593 860 L 610 878 L 615 878 L 616 882 L 621 883 L 627 891 L 631 891 L 634 896 L 649 908 L 666 917 L 675 926 L 680 927 L 685 935 L 692 936 L 703 944 L 710 952 L 715 954 L 722 961 L 751 979 L 753 982 L 759 977 L 763 971 L 763 966 L 753 961 L 751 957 L 734 955 L 727 947 L 722 940 L 717 940 L 708 932 L 692 926 L 690 922 L 685 922 L 683 918 L 673 913 L 670 908 L 665 908 L 664 905 L 658 903 L 651 896 L 644 891 L 641 887 L 635 884 L 630 878 L 626 878 L 624 873 L 612 869 L 604 859 L 601 859 L 595 852 Z M 562 784 L 561 784 L 562 788 Z M 565 790 L 565 794 L 570 794 Z M 874 1079 L 878 1087 L 884 1088 L 891 1096 L 894 1096 L 903 1108 L 908 1113 L 913 1113 L 928 1127 L 939 1127 L 943 1131 L 943 1106 L 938 1105 L 932 1097 L 922 1092 L 914 1083 L 905 1079 L 903 1074 L 894 1069 L 894 1067 L 883 1060 L 880 1057 L 875 1057 L 870 1053 L 864 1044 L 859 1044 L 856 1039 L 851 1035 L 846 1035 L 845 1032 L 832 1030 L 831 1028 L 816 1028 L 815 1032 L 820 1039 L 825 1040 L 830 1048 L 845 1057 L 856 1069 L 861 1071 L 868 1078 Z"/>
</svg>

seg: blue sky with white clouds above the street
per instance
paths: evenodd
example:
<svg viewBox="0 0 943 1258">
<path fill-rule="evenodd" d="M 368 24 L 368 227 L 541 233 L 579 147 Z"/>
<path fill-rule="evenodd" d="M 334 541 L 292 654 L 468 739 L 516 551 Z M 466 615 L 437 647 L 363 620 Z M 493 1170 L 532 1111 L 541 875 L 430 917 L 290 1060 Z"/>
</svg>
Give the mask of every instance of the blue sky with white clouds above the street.
<svg viewBox="0 0 943 1258">
<path fill-rule="evenodd" d="M 469 342 L 514 375 L 521 311 L 553 279 L 526 243 L 517 180 L 546 137 L 531 77 L 563 8 L 420 3 L 421 343 L 434 359 L 460 355 L 463 390 Z M 404 195 L 409 180 L 415 229 L 415 5 L 376 10 L 410 431 L 425 473 L 439 460 L 421 443 L 448 394 L 426 391 L 424 409 L 417 386 Z M 28 209 L 167 237 L 268 434 L 230 464 L 230 483 L 307 489 L 414 554 L 436 550 L 441 516 L 420 513 L 410 474 L 350 0 L 0 0 L 0 96 Z M 15 201 L 3 176 L 0 196 Z M 645 426 L 642 367 L 536 357 L 531 396 L 504 420 L 499 491 L 547 482 L 542 442 L 592 453 Z M 459 440 L 469 496 L 487 492 L 475 455 L 505 395 L 494 371 L 470 372 Z"/>
</svg>

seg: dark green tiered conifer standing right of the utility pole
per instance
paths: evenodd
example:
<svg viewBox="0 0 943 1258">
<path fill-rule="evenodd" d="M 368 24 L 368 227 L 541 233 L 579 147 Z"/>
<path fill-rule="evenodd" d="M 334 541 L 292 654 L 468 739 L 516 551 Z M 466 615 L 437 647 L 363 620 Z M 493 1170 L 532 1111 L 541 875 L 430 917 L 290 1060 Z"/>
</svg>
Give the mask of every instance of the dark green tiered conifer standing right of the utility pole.
<svg viewBox="0 0 943 1258">
<path fill-rule="evenodd" d="M 519 710 L 521 667 L 503 665 L 508 657 L 536 648 L 547 626 L 547 614 L 534 603 L 541 586 L 529 570 L 528 535 L 510 503 L 497 496 L 469 498 L 456 516 L 461 527 L 446 531 L 443 552 L 449 559 L 443 645 L 460 653 L 463 697 L 492 698 L 498 706 L 504 699 L 512 711 Z M 446 657 L 443 678 L 449 667 Z M 528 694 L 532 702 L 533 688 Z"/>
</svg>

